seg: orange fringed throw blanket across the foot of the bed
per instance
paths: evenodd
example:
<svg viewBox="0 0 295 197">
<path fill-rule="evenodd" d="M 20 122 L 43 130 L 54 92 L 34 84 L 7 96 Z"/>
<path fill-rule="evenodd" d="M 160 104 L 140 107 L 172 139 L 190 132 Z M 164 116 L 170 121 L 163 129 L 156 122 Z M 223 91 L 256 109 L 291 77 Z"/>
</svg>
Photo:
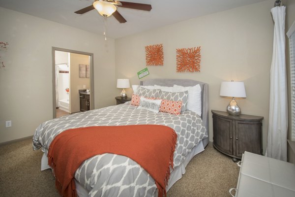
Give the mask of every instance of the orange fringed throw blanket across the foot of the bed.
<svg viewBox="0 0 295 197">
<path fill-rule="evenodd" d="M 76 197 L 75 171 L 87 159 L 104 153 L 129 157 L 155 180 L 158 197 L 166 197 L 173 167 L 176 132 L 161 125 L 97 126 L 61 132 L 52 141 L 48 164 L 63 197 Z"/>
</svg>

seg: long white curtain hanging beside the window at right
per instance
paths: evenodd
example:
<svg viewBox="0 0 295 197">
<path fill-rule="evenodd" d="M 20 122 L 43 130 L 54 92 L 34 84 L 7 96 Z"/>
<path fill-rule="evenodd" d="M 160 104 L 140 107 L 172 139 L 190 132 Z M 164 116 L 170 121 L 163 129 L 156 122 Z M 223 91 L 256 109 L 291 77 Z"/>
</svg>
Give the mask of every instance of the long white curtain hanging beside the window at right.
<svg viewBox="0 0 295 197">
<path fill-rule="evenodd" d="M 266 156 L 287 161 L 288 101 L 285 57 L 285 6 L 271 9 L 274 21 L 270 68 L 269 122 Z"/>
</svg>

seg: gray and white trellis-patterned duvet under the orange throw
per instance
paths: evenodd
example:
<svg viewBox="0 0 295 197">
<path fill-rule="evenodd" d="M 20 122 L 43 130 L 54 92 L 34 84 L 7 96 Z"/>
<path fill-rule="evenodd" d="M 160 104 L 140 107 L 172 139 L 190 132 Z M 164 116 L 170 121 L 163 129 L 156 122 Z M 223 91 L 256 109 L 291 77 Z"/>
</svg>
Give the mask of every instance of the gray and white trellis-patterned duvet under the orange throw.
<svg viewBox="0 0 295 197">
<path fill-rule="evenodd" d="M 88 126 L 166 125 L 177 132 L 174 166 L 184 160 L 191 149 L 207 137 L 201 118 L 191 111 L 180 115 L 153 113 L 124 104 L 76 113 L 42 123 L 33 136 L 33 149 L 47 155 L 50 143 L 60 132 Z M 89 197 L 157 197 L 154 180 L 133 160 L 103 154 L 86 160 L 76 171 L 75 179 L 89 191 Z"/>
</svg>

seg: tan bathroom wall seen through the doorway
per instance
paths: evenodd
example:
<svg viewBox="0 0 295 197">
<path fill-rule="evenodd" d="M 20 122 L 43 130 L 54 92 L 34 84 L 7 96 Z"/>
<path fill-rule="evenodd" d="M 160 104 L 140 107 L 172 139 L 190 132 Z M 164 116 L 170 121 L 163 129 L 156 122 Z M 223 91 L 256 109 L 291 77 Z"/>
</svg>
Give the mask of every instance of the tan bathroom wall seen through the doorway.
<svg viewBox="0 0 295 197">
<path fill-rule="evenodd" d="M 70 53 L 70 104 L 71 113 L 80 111 L 79 90 L 90 89 L 90 78 L 79 77 L 79 65 L 89 65 L 89 56 Z M 86 88 L 83 88 L 85 85 Z"/>
</svg>

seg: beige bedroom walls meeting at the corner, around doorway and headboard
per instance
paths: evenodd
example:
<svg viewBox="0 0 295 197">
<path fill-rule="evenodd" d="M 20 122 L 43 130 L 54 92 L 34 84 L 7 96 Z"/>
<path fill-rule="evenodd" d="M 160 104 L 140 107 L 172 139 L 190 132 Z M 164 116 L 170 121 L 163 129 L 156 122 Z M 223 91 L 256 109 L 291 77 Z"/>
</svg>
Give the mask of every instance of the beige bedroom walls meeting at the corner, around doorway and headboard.
<svg viewBox="0 0 295 197">
<path fill-rule="evenodd" d="M 295 20 L 295 12 L 291 11 L 295 10 L 295 1 L 283 3 L 287 5 L 287 31 Z M 32 135 L 41 122 L 52 118 L 53 46 L 94 54 L 94 107 L 100 108 L 115 104 L 114 97 L 121 91 L 114 88 L 117 78 L 139 83 L 136 72 L 146 67 L 145 46 L 163 43 L 164 66 L 148 66 L 150 75 L 143 80 L 188 78 L 207 82 L 210 109 L 216 110 L 225 110 L 230 101 L 219 97 L 220 83 L 244 81 L 247 98 L 237 102 L 242 113 L 265 117 L 265 152 L 272 6 L 273 0 L 267 0 L 117 39 L 116 44 L 110 38 L 105 42 L 100 35 L 0 7 L 0 41 L 9 43 L 8 50 L 1 53 L 6 67 L 0 68 L 0 92 L 4 98 L 0 102 L 0 143 Z M 201 72 L 176 73 L 176 49 L 196 46 L 201 46 Z M 127 93 L 130 96 L 132 90 L 127 89 Z M 5 128 L 6 120 L 12 120 L 11 128 Z"/>
</svg>

